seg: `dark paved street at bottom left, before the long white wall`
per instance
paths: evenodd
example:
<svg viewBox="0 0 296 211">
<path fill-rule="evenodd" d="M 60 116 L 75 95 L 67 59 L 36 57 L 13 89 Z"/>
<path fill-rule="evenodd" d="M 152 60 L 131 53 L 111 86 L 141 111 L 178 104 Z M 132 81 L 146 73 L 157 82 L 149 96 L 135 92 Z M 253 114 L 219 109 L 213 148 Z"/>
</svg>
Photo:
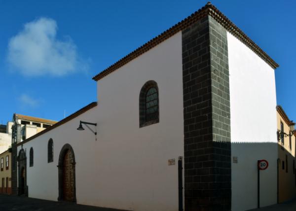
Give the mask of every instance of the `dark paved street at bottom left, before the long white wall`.
<svg viewBox="0 0 296 211">
<path fill-rule="evenodd" d="M 119 211 L 0 194 L 0 211 Z"/>
</svg>

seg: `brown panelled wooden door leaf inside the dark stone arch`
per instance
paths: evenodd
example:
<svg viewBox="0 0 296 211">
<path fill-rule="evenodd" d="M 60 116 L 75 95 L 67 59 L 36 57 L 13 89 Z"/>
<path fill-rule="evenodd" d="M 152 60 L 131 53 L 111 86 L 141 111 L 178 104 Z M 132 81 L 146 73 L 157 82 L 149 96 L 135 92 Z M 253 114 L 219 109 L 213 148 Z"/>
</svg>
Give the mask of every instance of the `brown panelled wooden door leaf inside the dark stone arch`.
<svg viewBox="0 0 296 211">
<path fill-rule="evenodd" d="M 63 196 L 65 201 L 74 201 L 74 169 L 73 153 L 71 150 L 65 152 L 63 159 Z"/>
</svg>

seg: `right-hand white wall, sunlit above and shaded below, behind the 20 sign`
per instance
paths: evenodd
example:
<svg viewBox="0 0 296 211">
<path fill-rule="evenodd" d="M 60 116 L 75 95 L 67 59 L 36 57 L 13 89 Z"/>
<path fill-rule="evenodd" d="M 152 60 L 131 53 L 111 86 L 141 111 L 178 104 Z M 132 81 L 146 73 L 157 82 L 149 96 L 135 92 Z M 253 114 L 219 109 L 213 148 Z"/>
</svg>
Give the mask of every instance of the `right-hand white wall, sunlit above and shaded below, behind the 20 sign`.
<svg viewBox="0 0 296 211">
<path fill-rule="evenodd" d="M 238 157 L 238 163 L 231 165 L 232 211 L 244 211 L 257 207 L 257 160 L 269 162 L 268 169 L 260 172 L 260 205 L 277 202 L 275 76 L 268 64 L 230 33 L 227 42 L 231 156 Z"/>
</svg>

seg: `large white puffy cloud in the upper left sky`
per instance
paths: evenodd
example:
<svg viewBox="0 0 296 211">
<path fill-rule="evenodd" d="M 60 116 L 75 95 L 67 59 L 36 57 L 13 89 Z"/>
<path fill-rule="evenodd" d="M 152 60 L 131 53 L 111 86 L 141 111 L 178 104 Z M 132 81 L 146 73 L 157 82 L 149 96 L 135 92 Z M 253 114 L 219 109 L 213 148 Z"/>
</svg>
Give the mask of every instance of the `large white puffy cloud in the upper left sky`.
<svg viewBox="0 0 296 211">
<path fill-rule="evenodd" d="M 87 69 L 71 38 L 58 40 L 56 33 L 57 23 L 53 19 L 39 18 L 26 23 L 24 29 L 9 40 L 8 62 L 28 76 L 62 76 Z"/>
</svg>

